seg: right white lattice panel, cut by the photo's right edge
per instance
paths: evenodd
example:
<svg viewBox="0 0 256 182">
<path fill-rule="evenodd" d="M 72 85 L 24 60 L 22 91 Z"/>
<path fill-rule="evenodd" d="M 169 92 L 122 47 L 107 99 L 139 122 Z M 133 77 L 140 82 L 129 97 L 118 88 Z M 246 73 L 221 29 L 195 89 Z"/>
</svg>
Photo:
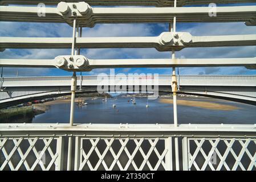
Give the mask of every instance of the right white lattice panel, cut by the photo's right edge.
<svg viewBox="0 0 256 182">
<path fill-rule="evenodd" d="M 256 139 L 184 138 L 185 169 L 212 171 L 256 170 Z M 188 168 L 186 168 L 188 166 Z"/>
</svg>

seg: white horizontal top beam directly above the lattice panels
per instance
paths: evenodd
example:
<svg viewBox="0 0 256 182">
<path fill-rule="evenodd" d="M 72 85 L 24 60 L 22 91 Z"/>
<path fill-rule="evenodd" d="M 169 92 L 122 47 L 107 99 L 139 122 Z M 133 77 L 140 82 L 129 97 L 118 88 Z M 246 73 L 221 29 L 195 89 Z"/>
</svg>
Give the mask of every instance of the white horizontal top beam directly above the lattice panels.
<svg viewBox="0 0 256 182">
<path fill-rule="evenodd" d="M 174 127 L 173 124 L 75 124 L 74 126 L 70 126 L 68 123 L 0 123 L 0 134 L 2 137 L 5 134 L 9 134 L 11 131 L 15 131 L 16 134 L 21 135 L 21 132 L 25 132 L 26 134 L 29 131 L 35 131 L 38 135 L 42 135 L 42 132 L 47 135 L 48 131 L 54 131 L 56 136 L 60 134 L 60 131 L 64 131 L 67 134 L 68 131 L 77 131 L 78 135 L 74 133 L 74 136 L 79 136 L 79 131 L 87 131 L 88 137 L 90 136 L 90 131 L 94 132 L 93 137 L 95 136 L 107 136 L 108 132 L 112 134 L 115 133 L 118 137 L 127 137 L 127 132 L 137 132 L 138 135 L 136 137 L 140 137 L 140 135 L 144 134 L 147 135 L 148 133 L 152 132 L 160 132 L 160 136 L 164 137 L 168 135 L 163 133 L 164 131 L 167 132 L 189 132 L 191 131 L 194 136 L 197 135 L 204 135 L 205 137 L 211 135 L 218 135 L 220 133 L 226 133 L 226 135 L 232 135 L 232 132 L 240 133 L 240 136 L 246 137 L 245 133 L 253 133 L 253 137 L 255 138 L 256 128 L 255 125 L 224 125 L 224 124 L 180 124 L 179 127 Z M 97 133 L 98 132 L 98 133 Z M 142 133 L 140 133 L 142 132 Z M 146 132 L 146 133 L 145 133 Z M 140 133 L 140 135 L 139 135 Z M 14 134 L 14 133 L 13 133 Z M 81 136 L 83 136 L 82 133 Z M 95 135 L 99 134 L 99 135 Z M 132 134 L 131 134 L 132 135 Z M 112 135 L 115 137 L 115 135 Z M 134 135 L 132 135 L 134 137 Z M 150 135 L 148 135 L 150 136 Z M 154 135 L 155 136 L 155 135 Z M 249 136 L 249 135 L 247 135 Z M 250 135 L 251 136 L 251 135 Z"/>
</svg>

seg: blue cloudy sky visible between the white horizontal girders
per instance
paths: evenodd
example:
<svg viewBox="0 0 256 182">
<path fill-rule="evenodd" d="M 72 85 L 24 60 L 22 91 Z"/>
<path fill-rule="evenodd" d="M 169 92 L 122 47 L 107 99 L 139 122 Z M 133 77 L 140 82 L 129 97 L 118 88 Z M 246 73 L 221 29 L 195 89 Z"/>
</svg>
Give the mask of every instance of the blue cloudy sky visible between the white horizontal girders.
<svg viewBox="0 0 256 182">
<path fill-rule="evenodd" d="M 255 5 L 251 4 L 251 5 Z M 155 24 L 96 24 L 94 28 L 83 28 L 83 36 L 159 36 L 168 31 L 168 23 Z M 255 26 L 244 23 L 177 23 L 176 31 L 190 32 L 194 36 L 255 34 Z M 71 37 L 72 27 L 64 23 L 15 23 L 0 22 L 0 36 L 12 37 Z M 71 49 L 6 49 L 0 58 L 54 59 L 59 55 L 70 55 Z M 82 49 L 82 55 L 90 59 L 154 59 L 169 58 L 170 52 L 158 52 L 155 48 L 107 48 Z M 177 58 L 235 58 L 255 57 L 256 46 L 185 48 L 176 52 Z M 72 73 L 50 68 L 4 68 L 3 76 L 64 76 Z M 170 74 L 170 68 L 123 68 L 116 73 Z M 83 75 L 109 73 L 109 69 L 94 69 Z M 245 67 L 179 68 L 181 75 L 255 75 L 255 70 Z"/>
</svg>

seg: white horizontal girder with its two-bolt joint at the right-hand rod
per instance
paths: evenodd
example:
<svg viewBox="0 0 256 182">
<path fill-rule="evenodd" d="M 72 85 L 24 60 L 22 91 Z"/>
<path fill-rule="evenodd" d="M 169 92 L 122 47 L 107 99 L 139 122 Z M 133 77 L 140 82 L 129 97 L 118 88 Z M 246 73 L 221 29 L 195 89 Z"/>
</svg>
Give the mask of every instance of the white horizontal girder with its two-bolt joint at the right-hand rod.
<svg viewBox="0 0 256 182">
<path fill-rule="evenodd" d="M 72 38 L 0 37 L 0 49 L 71 48 Z M 180 51 L 185 47 L 256 46 L 256 34 L 192 36 L 188 32 L 163 32 L 149 37 L 76 38 L 78 48 L 156 48 L 158 51 Z"/>
</svg>

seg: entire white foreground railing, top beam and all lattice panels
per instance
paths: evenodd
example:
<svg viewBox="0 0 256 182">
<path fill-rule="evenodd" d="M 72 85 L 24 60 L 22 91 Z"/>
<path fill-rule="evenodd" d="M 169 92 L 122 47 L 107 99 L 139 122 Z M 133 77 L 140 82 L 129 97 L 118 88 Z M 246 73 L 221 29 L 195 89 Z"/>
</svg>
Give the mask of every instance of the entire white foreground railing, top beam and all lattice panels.
<svg viewBox="0 0 256 182">
<path fill-rule="evenodd" d="M 255 170 L 255 125 L 0 124 L 1 170 Z"/>
</svg>

